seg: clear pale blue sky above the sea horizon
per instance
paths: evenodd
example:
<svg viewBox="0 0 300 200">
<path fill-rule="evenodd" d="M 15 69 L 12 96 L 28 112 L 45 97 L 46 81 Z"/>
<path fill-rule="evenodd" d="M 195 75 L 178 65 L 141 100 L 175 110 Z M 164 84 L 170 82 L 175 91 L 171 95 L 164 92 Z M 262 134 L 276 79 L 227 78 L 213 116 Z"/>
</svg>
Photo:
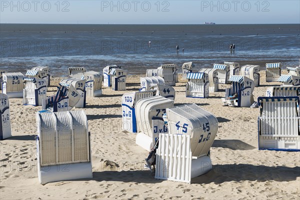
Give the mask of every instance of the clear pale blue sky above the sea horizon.
<svg viewBox="0 0 300 200">
<path fill-rule="evenodd" d="M 0 23 L 300 23 L 299 0 L 0 0 Z"/>
</svg>

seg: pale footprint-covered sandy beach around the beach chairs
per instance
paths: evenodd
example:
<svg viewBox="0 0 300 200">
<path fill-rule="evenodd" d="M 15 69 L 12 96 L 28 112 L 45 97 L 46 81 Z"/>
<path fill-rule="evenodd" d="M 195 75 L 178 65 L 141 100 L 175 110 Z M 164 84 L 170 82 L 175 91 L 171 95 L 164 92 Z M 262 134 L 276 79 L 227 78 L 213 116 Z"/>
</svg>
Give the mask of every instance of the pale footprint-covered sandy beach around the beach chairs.
<svg viewBox="0 0 300 200">
<path fill-rule="evenodd" d="M 284 71 L 286 73 L 286 71 Z M 223 107 L 219 92 L 209 98 L 186 98 L 185 82 L 174 86 L 174 105 L 196 103 L 218 119 L 210 149 L 213 169 L 191 184 L 158 180 L 143 168 L 148 152 L 135 144 L 136 134 L 122 130 L 121 96 L 137 91 L 139 77 L 127 77 L 126 91 L 103 88 L 87 97 L 83 108 L 91 132 L 93 178 L 39 184 L 36 168 L 35 112 L 41 107 L 10 98 L 12 137 L 0 141 L 0 199 L 299 199 L 300 152 L 258 150 L 258 108 Z M 51 78 L 48 95 L 60 78 Z M 180 80 L 180 79 L 179 79 Z M 254 99 L 270 85 L 260 71 Z M 79 109 L 79 108 L 74 108 Z M 62 170 L 62 169 L 57 169 Z"/>
</svg>

